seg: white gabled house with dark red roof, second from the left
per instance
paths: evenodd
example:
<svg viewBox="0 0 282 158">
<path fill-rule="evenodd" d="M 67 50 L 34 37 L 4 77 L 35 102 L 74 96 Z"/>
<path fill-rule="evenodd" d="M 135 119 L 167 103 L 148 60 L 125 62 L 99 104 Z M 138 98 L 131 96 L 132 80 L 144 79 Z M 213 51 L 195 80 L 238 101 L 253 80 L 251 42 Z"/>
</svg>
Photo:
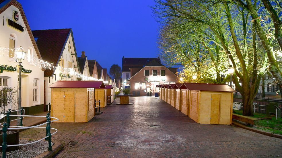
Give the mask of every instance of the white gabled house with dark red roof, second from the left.
<svg viewBox="0 0 282 158">
<path fill-rule="evenodd" d="M 44 71 L 44 105 L 51 103 L 50 85 L 56 81 L 76 81 L 80 74 L 72 29 L 32 31 L 43 60 L 54 69 Z"/>
</svg>

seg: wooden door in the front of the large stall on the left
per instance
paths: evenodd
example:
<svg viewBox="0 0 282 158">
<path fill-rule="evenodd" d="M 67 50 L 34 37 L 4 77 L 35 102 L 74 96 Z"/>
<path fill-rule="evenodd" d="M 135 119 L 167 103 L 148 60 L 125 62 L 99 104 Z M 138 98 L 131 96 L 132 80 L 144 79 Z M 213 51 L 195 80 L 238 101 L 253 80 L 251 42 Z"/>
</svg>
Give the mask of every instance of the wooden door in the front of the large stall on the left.
<svg viewBox="0 0 282 158">
<path fill-rule="evenodd" d="M 74 122 L 75 116 L 75 91 L 65 91 L 65 122 Z"/>
</svg>

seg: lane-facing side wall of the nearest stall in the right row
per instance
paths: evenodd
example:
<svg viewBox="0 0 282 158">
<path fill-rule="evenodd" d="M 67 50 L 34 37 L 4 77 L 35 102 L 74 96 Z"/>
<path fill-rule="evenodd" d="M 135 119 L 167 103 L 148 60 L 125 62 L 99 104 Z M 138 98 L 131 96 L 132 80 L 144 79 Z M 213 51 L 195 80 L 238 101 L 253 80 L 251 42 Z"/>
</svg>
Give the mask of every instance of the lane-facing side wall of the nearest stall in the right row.
<svg viewBox="0 0 282 158">
<path fill-rule="evenodd" d="M 190 91 L 189 107 L 189 117 L 198 123 L 199 91 Z"/>
</svg>

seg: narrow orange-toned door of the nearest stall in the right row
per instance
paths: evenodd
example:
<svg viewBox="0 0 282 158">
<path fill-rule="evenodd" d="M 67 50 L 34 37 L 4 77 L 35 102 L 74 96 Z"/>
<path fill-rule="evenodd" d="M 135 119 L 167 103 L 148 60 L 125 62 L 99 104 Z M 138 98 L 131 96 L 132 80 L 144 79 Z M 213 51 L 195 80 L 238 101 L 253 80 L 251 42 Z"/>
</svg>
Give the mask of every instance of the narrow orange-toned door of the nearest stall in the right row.
<svg viewBox="0 0 282 158">
<path fill-rule="evenodd" d="M 219 124 L 220 94 L 211 95 L 211 124 Z"/>
</svg>

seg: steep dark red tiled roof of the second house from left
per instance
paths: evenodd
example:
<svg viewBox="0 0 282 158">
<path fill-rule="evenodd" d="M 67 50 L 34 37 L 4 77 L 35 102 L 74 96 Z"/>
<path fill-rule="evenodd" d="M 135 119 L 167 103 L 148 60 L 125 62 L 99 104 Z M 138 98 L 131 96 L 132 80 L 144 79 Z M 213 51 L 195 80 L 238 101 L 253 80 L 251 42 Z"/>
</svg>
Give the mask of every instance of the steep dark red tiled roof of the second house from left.
<svg viewBox="0 0 282 158">
<path fill-rule="evenodd" d="M 36 44 L 42 59 L 57 67 L 69 35 L 72 34 L 72 29 L 34 30 L 32 33 L 34 37 L 38 38 Z M 72 53 L 76 56 L 76 50 Z M 53 76 L 53 74 L 54 70 L 46 69 L 44 71 L 44 76 Z"/>
</svg>

